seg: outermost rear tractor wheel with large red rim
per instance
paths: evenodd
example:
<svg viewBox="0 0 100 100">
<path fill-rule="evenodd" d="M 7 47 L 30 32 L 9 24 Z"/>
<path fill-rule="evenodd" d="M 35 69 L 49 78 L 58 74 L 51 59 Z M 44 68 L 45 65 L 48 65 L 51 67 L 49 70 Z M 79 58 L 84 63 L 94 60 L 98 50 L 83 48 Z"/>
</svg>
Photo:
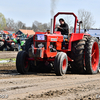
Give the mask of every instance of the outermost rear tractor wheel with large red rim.
<svg viewBox="0 0 100 100">
<path fill-rule="evenodd" d="M 96 74 L 99 67 L 99 44 L 95 37 L 89 37 L 85 46 L 85 65 L 88 74 Z"/>
</svg>

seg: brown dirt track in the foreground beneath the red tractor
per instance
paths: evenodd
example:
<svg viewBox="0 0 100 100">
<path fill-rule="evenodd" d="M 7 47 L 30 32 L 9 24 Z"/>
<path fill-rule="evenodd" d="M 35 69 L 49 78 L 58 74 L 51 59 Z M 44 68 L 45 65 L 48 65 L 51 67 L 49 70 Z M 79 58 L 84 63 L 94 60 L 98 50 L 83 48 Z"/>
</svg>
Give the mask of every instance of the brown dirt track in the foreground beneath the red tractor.
<svg viewBox="0 0 100 100">
<path fill-rule="evenodd" d="M 2 95 L 7 95 L 7 100 L 100 100 L 100 73 L 20 75 L 15 66 L 4 66 L 0 67 L 0 97 Z"/>
</svg>

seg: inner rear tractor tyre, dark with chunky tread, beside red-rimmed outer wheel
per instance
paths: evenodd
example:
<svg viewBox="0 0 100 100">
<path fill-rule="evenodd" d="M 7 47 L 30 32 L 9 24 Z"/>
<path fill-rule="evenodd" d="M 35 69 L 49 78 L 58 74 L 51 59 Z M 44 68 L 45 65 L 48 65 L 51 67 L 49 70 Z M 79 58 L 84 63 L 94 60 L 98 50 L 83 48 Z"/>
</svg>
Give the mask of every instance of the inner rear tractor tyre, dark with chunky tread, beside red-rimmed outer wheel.
<svg viewBox="0 0 100 100">
<path fill-rule="evenodd" d="M 71 71 L 72 73 L 84 73 L 84 49 L 85 49 L 85 43 L 87 39 L 84 37 L 82 40 L 75 41 L 72 43 L 72 52 L 71 52 L 71 58 L 74 60 L 73 63 L 71 63 Z"/>
</svg>

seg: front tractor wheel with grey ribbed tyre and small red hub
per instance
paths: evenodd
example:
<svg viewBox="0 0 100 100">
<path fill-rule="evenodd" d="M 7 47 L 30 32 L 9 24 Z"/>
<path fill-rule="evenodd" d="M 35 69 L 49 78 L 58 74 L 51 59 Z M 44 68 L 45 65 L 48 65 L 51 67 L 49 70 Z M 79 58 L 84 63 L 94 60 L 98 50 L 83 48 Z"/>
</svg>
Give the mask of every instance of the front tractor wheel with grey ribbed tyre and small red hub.
<svg viewBox="0 0 100 100">
<path fill-rule="evenodd" d="M 54 69 L 55 69 L 55 74 L 57 76 L 62 76 L 66 74 L 68 68 L 68 58 L 67 54 L 63 52 L 59 52 L 54 61 Z"/>
</svg>

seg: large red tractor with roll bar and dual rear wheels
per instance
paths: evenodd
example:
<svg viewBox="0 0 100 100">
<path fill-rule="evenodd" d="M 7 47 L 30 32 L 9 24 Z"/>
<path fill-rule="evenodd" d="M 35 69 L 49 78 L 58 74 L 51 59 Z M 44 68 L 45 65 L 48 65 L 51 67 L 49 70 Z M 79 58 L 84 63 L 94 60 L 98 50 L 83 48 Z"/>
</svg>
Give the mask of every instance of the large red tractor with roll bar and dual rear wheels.
<svg viewBox="0 0 100 100">
<path fill-rule="evenodd" d="M 74 32 L 62 49 L 63 36 L 55 31 L 56 17 L 60 14 L 75 17 Z M 76 33 L 77 23 L 79 33 Z M 99 68 L 99 45 L 95 37 L 80 33 L 80 23 L 74 13 L 59 12 L 54 16 L 53 34 L 36 32 L 25 44 L 25 51 L 20 51 L 16 58 L 16 68 L 26 74 L 32 68 L 52 67 L 58 76 L 64 75 L 68 69 L 73 73 L 96 74 Z M 34 41 L 34 42 L 33 42 Z M 70 66 L 69 66 L 70 65 Z M 39 67 L 38 67 L 39 66 Z M 46 67 L 45 67 L 46 66 Z"/>
</svg>

